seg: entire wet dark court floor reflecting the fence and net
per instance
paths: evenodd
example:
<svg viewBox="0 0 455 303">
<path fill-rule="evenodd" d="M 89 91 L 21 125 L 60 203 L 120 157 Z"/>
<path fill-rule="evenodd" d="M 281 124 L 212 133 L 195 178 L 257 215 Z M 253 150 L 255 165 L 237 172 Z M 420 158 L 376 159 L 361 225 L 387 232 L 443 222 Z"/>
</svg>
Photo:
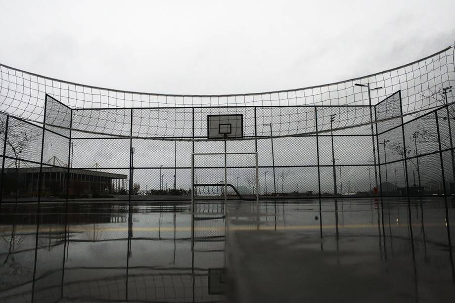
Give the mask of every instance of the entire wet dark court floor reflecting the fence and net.
<svg viewBox="0 0 455 303">
<path fill-rule="evenodd" d="M 192 216 L 169 202 L 3 204 L 0 302 L 454 302 L 454 208 L 205 201 Z"/>
</svg>

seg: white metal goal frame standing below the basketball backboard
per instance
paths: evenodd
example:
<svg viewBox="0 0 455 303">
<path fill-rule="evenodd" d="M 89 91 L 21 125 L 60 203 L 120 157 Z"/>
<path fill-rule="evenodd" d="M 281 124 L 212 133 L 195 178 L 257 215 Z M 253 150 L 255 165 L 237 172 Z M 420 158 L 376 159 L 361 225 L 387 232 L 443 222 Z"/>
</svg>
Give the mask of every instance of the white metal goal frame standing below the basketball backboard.
<svg viewBox="0 0 455 303">
<path fill-rule="evenodd" d="M 239 181 L 240 178 L 242 179 Z M 245 186 L 246 184 L 248 186 Z M 227 201 L 228 187 L 241 199 L 242 193 L 250 196 L 254 194 L 255 200 L 259 201 L 258 153 L 192 153 L 192 212 L 194 212 L 194 199 L 198 187 L 211 187 L 212 192 L 204 192 L 209 196 L 219 193 L 218 189 L 222 187 L 225 201 Z"/>
</svg>

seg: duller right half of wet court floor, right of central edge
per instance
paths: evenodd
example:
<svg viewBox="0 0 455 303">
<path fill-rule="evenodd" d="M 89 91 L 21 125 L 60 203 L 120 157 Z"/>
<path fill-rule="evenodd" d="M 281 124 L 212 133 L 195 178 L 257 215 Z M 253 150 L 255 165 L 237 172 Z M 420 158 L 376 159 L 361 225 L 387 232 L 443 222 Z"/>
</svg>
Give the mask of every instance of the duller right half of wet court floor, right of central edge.
<svg viewBox="0 0 455 303">
<path fill-rule="evenodd" d="M 455 302 L 444 199 L 318 204 L 228 207 L 232 301 Z"/>
</svg>

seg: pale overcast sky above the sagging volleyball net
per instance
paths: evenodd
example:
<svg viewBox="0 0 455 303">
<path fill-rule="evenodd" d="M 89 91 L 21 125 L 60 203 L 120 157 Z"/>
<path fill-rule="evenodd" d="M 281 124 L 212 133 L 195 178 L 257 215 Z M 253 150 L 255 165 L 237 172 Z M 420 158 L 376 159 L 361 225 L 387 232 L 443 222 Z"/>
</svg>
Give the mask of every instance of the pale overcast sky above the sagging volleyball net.
<svg viewBox="0 0 455 303">
<path fill-rule="evenodd" d="M 0 62 L 82 84 L 222 94 L 363 76 L 455 40 L 438 1 L 0 0 Z"/>
</svg>

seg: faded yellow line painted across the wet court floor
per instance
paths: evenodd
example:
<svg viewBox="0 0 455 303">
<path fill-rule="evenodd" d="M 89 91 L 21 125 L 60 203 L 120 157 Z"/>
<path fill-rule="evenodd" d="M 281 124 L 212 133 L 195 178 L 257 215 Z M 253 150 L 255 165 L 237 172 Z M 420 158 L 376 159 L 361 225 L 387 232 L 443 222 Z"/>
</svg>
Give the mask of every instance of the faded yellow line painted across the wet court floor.
<svg viewBox="0 0 455 303">
<path fill-rule="evenodd" d="M 395 227 L 408 227 L 408 224 L 392 224 L 391 226 Z M 422 225 L 419 223 L 412 223 L 412 227 L 421 227 Z M 444 223 L 429 223 L 429 224 L 424 224 L 424 227 L 446 227 Z M 338 229 L 361 229 L 361 228 L 377 228 L 377 224 L 345 224 L 345 225 L 338 225 Z M 322 225 L 322 229 L 335 229 L 336 225 L 335 224 L 326 224 Z M 227 230 L 229 231 L 250 231 L 250 230 L 319 230 L 320 225 L 286 225 L 286 226 L 266 226 L 266 225 L 230 225 Z M 9 236 L 10 233 L 12 232 L 11 227 L 7 228 L 1 228 L 0 229 L 0 236 Z M 128 227 L 105 227 L 105 228 L 99 228 L 97 226 L 93 227 L 92 225 L 87 225 L 87 226 L 77 226 L 77 227 L 69 227 L 67 229 L 67 232 L 91 232 L 93 230 L 96 230 L 97 232 L 103 231 L 103 232 L 128 232 Z M 148 232 L 174 232 L 174 231 L 179 231 L 179 232 L 191 232 L 191 226 L 184 226 L 184 227 L 158 227 L 158 226 L 153 226 L 153 227 L 132 227 L 133 232 L 140 232 L 140 231 L 148 231 Z M 200 227 L 194 227 L 194 231 L 224 231 L 225 227 L 220 226 L 220 227 L 205 227 L 205 226 L 200 226 Z M 51 227 L 49 226 L 42 226 L 40 227 L 39 232 L 40 233 L 55 233 L 55 232 L 64 232 L 65 228 L 64 227 Z M 28 226 L 17 226 L 15 228 L 15 232 L 36 232 L 36 227 L 28 227 Z"/>
</svg>

